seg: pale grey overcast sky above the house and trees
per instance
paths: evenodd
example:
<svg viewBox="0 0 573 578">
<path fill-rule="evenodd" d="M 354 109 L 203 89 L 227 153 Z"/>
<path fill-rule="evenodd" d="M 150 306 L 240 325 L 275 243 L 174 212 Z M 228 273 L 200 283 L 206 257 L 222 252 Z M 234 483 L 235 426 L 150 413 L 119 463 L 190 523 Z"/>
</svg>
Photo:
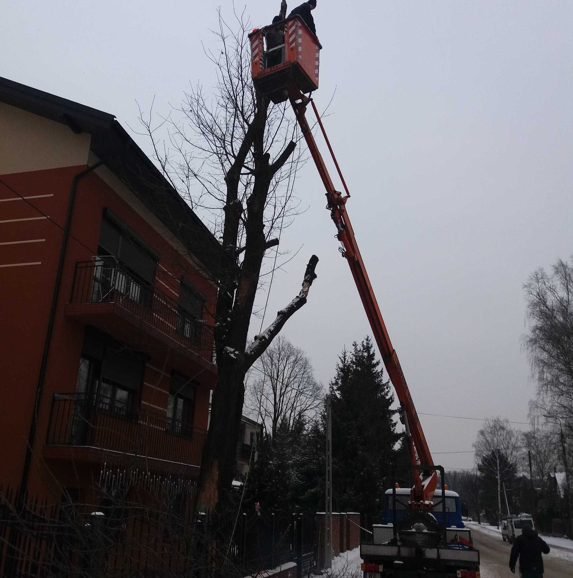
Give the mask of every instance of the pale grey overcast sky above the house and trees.
<svg viewBox="0 0 573 578">
<path fill-rule="evenodd" d="M 135 127 L 136 100 L 145 109 L 155 95 L 168 112 L 189 81 L 213 86 L 201 43 L 213 44 L 217 5 L 8 0 L 0 75 Z M 230 0 L 221 5 L 228 13 Z M 248 2 L 253 26 L 279 5 Z M 326 129 L 418 412 L 526 422 L 535 384 L 520 347 L 522 284 L 573 253 L 573 2 L 318 0 L 313 14 L 314 98 L 322 110 L 336 89 Z M 308 210 L 281 245 L 302 249 L 278 272 L 269 314 L 317 254 L 318 279 L 284 334 L 326 384 L 370 328 L 311 163 L 296 194 Z M 435 462 L 472 466 L 471 453 L 439 452 L 470 451 L 480 421 L 421 420 Z"/>
</svg>

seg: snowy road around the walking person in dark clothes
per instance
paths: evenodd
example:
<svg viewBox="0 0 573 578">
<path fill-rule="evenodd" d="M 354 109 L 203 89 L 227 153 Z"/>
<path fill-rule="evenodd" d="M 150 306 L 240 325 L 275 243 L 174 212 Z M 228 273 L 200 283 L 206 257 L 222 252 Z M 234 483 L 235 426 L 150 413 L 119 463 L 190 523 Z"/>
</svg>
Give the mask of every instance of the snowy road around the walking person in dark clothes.
<svg viewBox="0 0 573 578">
<path fill-rule="evenodd" d="M 481 578 L 515 578 L 509 570 L 509 551 L 511 546 L 501 539 L 501 533 L 495 528 L 486 528 L 478 524 L 468 524 L 474 547 L 481 557 Z M 572 575 L 573 550 L 550 543 L 551 551 L 544 555 L 545 578 L 570 578 Z"/>
</svg>

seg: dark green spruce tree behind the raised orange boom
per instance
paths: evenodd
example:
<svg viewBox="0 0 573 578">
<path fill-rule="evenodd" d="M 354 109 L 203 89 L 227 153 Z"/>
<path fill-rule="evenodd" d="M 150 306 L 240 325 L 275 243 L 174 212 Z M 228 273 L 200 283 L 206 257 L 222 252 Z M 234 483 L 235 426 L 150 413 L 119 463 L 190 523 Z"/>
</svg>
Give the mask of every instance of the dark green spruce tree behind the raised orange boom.
<svg viewBox="0 0 573 578">
<path fill-rule="evenodd" d="M 401 434 L 390 409 L 394 395 L 384 380 L 372 340 L 354 343 L 338 358 L 332 397 L 333 507 L 377 512 L 392 483 Z"/>
</svg>

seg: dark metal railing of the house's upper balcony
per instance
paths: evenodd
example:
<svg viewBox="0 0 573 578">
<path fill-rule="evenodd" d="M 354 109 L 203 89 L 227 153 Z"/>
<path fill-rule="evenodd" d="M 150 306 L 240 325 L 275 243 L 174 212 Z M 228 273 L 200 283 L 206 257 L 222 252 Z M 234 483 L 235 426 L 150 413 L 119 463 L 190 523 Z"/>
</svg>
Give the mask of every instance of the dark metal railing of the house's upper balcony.
<svg viewBox="0 0 573 578">
<path fill-rule="evenodd" d="M 70 303 L 117 303 L 134 316 L 215 364 L 213 328 L 186 313 L 114 258 L 76 263 Z"/>
</svg>

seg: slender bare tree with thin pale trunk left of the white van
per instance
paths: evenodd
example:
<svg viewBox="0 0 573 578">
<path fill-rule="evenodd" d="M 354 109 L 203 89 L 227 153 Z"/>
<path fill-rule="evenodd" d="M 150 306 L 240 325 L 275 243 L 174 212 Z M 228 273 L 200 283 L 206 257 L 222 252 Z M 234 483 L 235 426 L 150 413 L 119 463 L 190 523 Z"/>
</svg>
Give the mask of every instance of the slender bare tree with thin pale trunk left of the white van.
<svg viewBox="0 0 573 578">
<path fill-rule="evenodd" d="M 497 479 L 497 523 L 501 524 L 501 480 L 515 466 L 519 453 L 519 433 L 508 420 L 485 420 L 474 442 L 475 459 Z"/>
</svg>

